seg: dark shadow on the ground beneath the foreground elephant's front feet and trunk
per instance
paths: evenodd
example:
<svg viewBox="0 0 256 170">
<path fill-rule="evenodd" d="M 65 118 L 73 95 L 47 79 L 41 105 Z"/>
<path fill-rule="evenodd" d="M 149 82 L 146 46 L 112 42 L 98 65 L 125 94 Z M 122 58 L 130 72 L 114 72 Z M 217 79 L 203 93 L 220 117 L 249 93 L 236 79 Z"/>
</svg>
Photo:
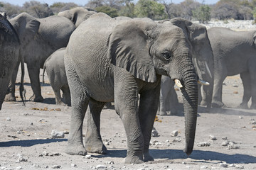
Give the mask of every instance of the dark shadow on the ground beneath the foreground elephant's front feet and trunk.
<svg viewBox="0 0 256 170">
<path fill-rule="evenodd" d="M 212 151 L 202 151 L 202 150 L 193 150 L 192 154 L 187 157 L 186 154 L 181 149 L 149 149 L 149 153 L 154 159 L 163 159 L 156 160 L 154 163 L 160 162 L 174 162 L 174 159 L 186 159 L 191 158 L 195 159 L 194 162 L 226 162 L 227 164 L 255 164 L 256 157 L 247 154 L 223 154 L 219 152 Z M 107 154 L 104 155 L 95 155 L 93 157 L 102 158 L 102 157 L 122 157 L 125 158 L 127 155 L 126 150 L 108 150 Z"/>
</svg>

